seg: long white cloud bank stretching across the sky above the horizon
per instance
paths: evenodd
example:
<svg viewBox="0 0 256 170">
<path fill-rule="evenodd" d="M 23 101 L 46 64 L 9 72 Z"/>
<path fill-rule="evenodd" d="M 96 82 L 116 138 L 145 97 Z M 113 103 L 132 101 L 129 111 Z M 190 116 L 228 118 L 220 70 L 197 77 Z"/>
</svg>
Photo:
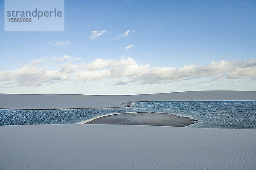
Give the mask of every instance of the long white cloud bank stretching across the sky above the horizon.
<svg viewBox="0 0 256 170">
<path fill-rule="evenodd" d="M 57 58 L 67 61 L 69 56 Z M 99 81 L 112 79 L 116 85 L 126 84 L 164 84 L 192 79 L 218 80 L 250 79 L 256 81 L 256 59 L 242 62 L 221 60 L 208 65 L 184 65 L 180 68 L 151 67 L 139 65 L 131 57 L 128 59 L 96 59 L 84 64 L 65 62 L 55 65 L 57 68 L 39 67 L 43 59 L 36 59 L 15 70 L 0 71 L 0 81 L 10 85 L 42 85 L 61 81 Z M 50 65 L 50 62 L 48 63 Z M 199 82 L 198 82 L 199 83 Z"/>
</svg>

